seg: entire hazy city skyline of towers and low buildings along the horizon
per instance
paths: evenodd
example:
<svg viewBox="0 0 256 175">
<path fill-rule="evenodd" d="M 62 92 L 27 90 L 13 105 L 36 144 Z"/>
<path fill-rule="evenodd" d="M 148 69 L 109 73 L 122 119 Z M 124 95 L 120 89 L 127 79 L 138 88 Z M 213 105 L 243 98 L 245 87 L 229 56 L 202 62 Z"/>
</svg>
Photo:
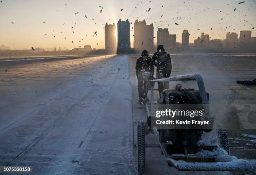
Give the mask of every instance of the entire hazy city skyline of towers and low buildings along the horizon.
<svg viewBox="0 0 256 175">
<path fill-rule="evenodd" d="M 135 47 L 131 47 L 130 41 L 130 22 L 129 20 L 122 21 L 118 20 L 117 24 L 117 35 L 116 35 L 116 27 L 115 23 L 105 24 L 105 48 L 92 48 L 91 45 L 84 45 L 84 47 L 74 47 L 71 50 L 61 49 L 59 46 L 59 50 L 54 49 L 46 50 L 44 48 L 34 48 L 31 47 L 29 50 L 13 50 L 9 52 L 9 48 L 0 45 L 1 54 L 3 55 L 33 55 L 33 54 L 51 54 L 49 51 L 53 51 L 52 54 L 134 54 L 141 53 L 142 50 L 148 50 L 148 52 L 155 52 L 157 45 L 164 45 L 165 50 L 172 53 L 177 52 L 256 52 L 256 37 L 251 36 L 250 30 L 242 30 L 240 31 L 240 35 L 238 38 L 238 34 L 235 32 L 228 32 L 226 34 L 226 38 L 224 40 L 221 39 L 213 39 L 210 40 L 210 35 L 205 34 L 205 32 L 201 33 L 200 37 L 194 40 L 194 42 L 189 42 L 190 33 L 188 30 L 183 30 L 182 32 L 182 42 L 176 42 L 176 34 L 169 34 L 168 28 L 158 28 L 157 30 L 157 43 L 153 41 L 153 31 L 154 27 L 152 24 L 146 25 L 146 21 L 138 21 L 134 23 L 134 41 Z M 97 32 L 95 32 L 97 35 Z M 117 42 L 116 42 L 117 39 Z M 117 47 L 116 47 L 117 46 Z M 48 52 L 47 52 L 48 51 Z"/>
</svg>

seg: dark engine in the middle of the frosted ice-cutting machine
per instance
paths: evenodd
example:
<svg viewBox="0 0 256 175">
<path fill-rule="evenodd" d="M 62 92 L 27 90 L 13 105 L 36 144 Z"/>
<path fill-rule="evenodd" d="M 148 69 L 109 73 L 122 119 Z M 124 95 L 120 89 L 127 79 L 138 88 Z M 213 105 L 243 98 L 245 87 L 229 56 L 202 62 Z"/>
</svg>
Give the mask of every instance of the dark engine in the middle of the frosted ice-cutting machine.
<svg viewBox="0 0 256 175">
<path fill-rule="evenodd" d="M 206 94 L 207 100 L 209 100 L 209 94 Z M 165 89 L 163 91 L 163 98 L 159 103 L 165 105 L 200 105 L 202 104 L 202 98 L 200 97 L 200 92 L 198 90 L 182 89 L 181 85 L 177 84 L 175 90 Z M 158 131 L 160 143 L 167 143 L 168 154 L 195 154 L 200 150 L 197 142 L 201 140 L 201 135 L 204 130 L 159 129 Z"/>
</svg>

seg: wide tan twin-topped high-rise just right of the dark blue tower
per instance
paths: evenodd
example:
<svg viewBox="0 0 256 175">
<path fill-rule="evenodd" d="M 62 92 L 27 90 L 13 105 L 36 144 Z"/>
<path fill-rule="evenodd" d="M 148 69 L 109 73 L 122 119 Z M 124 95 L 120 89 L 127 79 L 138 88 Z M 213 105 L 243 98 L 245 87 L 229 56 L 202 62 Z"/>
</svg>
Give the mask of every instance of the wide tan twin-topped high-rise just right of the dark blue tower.
<svg viewBox="0 0 256 175">
<path fill-rule="evenodd" d="M 153 24 L 147 25 L 146 21 L 136 20 L 134 23 L 134 42 L 133 48 L 141 52 L 142 50 L 148 50 L 152 52 L 154 50 L 154 27 Z"/>
</svg>

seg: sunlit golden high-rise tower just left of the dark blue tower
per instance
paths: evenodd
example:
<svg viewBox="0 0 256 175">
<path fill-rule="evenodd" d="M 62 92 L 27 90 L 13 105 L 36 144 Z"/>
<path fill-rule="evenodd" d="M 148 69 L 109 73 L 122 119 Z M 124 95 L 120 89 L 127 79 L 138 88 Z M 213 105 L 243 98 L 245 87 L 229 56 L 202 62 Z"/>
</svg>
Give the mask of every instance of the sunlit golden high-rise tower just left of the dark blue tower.
<svg viewBox="0 0 256 175">
<path fill-rule="evenodd" d="M 105 50 L 116 52 L 115 23 L 105 25 Z"/>
</svg>

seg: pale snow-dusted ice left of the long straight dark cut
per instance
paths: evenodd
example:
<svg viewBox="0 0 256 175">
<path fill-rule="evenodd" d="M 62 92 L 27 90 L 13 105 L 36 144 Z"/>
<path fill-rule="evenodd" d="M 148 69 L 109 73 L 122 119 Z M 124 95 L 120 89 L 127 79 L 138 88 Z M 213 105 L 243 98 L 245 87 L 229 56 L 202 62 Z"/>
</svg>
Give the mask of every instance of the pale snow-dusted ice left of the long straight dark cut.
<svg viewBox="0 0 256 175">
<path fill-rule="evenodd" d="M 0 165 L 35 174 L 136 173 L 127 56 L 10 65 L 8 73 Z"/>
</svg>

